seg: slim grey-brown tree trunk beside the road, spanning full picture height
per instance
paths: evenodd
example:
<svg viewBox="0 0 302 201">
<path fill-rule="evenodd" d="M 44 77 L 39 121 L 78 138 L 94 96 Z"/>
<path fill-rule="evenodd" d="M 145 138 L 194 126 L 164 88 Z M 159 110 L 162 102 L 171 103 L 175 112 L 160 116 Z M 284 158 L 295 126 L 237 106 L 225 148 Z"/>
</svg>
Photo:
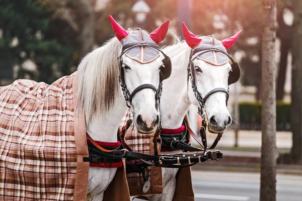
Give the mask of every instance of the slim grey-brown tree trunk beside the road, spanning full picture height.
<svg viewBox="0 0 302 201">
<path fill-rule="evenodd" d="M 276 200 L 276 0 L 262 1 L 260 201 Z"/>
</svg>

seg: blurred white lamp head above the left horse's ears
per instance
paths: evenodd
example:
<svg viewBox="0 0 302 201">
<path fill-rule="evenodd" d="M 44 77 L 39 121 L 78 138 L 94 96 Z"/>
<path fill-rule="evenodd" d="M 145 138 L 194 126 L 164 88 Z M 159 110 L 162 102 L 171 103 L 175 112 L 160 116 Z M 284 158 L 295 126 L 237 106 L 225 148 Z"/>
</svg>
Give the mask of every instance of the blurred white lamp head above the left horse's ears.
<svg viewBox="0 0 302 201">
<path fill-rule="evenodd" d="M 131 11 L 135 14 L 136 22 L 142 27 L 147 14 L 150 13 L 150 7 L 143 0 L 138 0 L 131 8 Z"/>
</svg>

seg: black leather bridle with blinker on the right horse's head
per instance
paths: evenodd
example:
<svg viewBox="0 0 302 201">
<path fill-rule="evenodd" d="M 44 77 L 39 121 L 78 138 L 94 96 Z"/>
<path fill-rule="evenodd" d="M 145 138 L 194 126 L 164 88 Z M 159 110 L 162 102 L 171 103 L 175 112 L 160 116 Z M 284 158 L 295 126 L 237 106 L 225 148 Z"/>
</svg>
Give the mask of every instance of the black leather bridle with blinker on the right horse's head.
<svg viewBox="0 0 302 201">
<path fill-rule="evenodd" d="M 189 62 L 188 62 L 188 81 L 189 79 L 191 80 L 191 84 L 192 84 L 192 89 L 194 92 L 194 95 L 198 101 L 199 107 L 198 107 L 198 114 L 201 116 L 202 118 L 202 125 L 200 128 L 200 136 L 201 136 L 201 140 L 202 140 L 202 144 L 204 147 L 204 152 L 207 149 L 207 141 L 206 141 L 206 127 L 208 126 L 208 117 L 207 117 L 207 111 L 205 110 L 205 103 L 206 100 L 208 99 L 208 97 L 214 93 L 217 92 L 224 92 L 225 93 L 225 104 L 228 105 L 228 100 L 229 100 L 229 87 L 228 90 L 226 90 L 225 88 L 214 88 L 211 91 L 209 91 L 204 97 L 202 97 L 202 95 L 199 93 L 197 86 L 195 84 L 195 69 L 194 69 L 194 64 L 193 61 L 199 57 L 200 55 L 206 53 L 206 52 L 210 52 L 210 51 L 215 51 L 215 52 L 221 52 L 222 54 L 226 55 L 231 61 L 231 71 L 229 72 L 229 78 L 228 78 L 228 85 L 233 84 L 235 82 L 237 82 L 240 78 L 241 75 L 241 70 L 240 70 L 240 66 L 237 62 L 234 61 L 234 59 L 229 56 L 229 54 L 225 51 L 219 50 L 217 48 L 213 48 L 213 47 L 200 47 L 200 48 L 196 48 L 193 51 L 191 51 L 190 53 L 190 57 L 189 57 Z M 195 56 L 194 58 L 192 58 L 196 53 L 199 53 L 197 56 Z M 217 137 L 214 141 L 214 143 L 212 144 L 212 146 L 208 149 L 213 149 L 215 148 L 215 146 L 217 145 L 218 141 L 220 140 L 221 136 L 222 136 L 223 132 L 221 133 L 217 133 Z"/>
</svg>

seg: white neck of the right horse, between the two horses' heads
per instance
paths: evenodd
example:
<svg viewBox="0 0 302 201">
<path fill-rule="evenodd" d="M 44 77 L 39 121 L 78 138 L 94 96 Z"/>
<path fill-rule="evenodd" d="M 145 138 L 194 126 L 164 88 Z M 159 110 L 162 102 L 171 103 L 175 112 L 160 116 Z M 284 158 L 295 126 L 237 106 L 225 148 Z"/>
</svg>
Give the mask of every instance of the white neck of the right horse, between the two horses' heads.
<svg viewBox="0 0 302 201">
<path fill-rule="evenodd" d="M 173 62 L 171 77 L 163 82 L 160 112 L 163 128 L 166 129 L 181 127 L 191 105 L 187 87 L 187 66 L 178 63 Z"/>
</svg>

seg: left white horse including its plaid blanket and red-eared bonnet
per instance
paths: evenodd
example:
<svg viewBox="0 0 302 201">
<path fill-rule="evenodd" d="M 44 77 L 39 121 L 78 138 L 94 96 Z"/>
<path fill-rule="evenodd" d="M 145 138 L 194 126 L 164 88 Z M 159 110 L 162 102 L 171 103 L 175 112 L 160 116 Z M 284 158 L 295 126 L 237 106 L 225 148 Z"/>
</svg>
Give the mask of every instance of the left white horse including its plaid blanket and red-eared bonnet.
<svg viewBox="0 0 302 201">
<path fill-rule="evenodd" d="M 141 133 L 157 129 L 163 71 L 157 43 L 169 20 L 148 34 L 109 19 L 116 37 L 87 54 L 77 72 L 51 85 L 16 80 L 0 87 L 1 200 L 83 200 L 86 187 L 90 200 L 102 200 L 122 162 L 90 163 L 88 175 L 85 133 L 98 146 L 119 146 L 127 104 Z"/>
</svg>

